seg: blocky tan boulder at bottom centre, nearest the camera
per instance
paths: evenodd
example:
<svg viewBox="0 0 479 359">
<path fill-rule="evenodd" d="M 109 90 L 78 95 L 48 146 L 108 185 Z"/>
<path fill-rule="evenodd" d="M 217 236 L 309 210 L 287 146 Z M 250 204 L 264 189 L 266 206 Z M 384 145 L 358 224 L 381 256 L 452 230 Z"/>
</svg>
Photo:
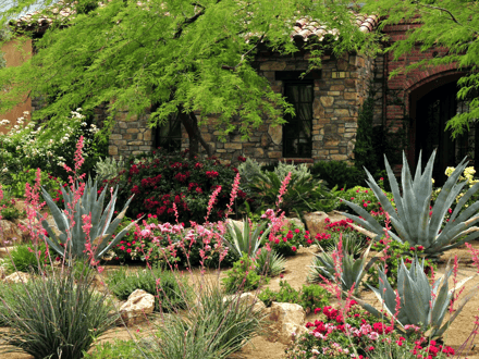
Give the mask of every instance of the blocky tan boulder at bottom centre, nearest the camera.
<svg viewBox="0 0 479 359">
<path fill-rule="evenodd" d="M 279 341 L 284 345 L 291 344 L 294 336 L 306 333 L 306 313 L 302 306 L 290 302 L 273 301 L 268 318 L 270 324 L 270 342 Z"/>
</svg>

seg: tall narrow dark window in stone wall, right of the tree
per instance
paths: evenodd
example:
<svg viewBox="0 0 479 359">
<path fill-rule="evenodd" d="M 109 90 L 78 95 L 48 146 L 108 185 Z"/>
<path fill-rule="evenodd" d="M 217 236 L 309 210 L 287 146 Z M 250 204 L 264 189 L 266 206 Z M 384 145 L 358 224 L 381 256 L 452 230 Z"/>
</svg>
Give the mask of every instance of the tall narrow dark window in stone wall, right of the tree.
<svg viewBox="0 0 479 359">
<path fill-rule="evenodd" d="M 285 116 L 283 157 L 310 158 L 312 150 L 314 84 L 310 81 L 285 82 L 284 96 L 293 104 L 295 115 Z"/>
</svg>

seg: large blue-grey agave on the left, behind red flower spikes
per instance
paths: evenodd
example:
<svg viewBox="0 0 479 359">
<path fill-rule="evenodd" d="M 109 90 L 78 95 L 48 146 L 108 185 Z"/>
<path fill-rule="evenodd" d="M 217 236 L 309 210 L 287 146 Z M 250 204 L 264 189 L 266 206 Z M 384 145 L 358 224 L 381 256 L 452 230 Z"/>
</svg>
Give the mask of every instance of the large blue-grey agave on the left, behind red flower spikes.
<svg viewBox="0 0 479 359">
<path fill-rule="evenodd" d="M 65 201 L 65 208 L 69 208 L 69 203 L 75 203 L 74 196 L 77 190 L 77 184 L 73 188 L 67 188 L 66 190 L 62 188 L 63 199 Z M 88 235 L 84 230 L 84 216 L 91 215 L 91 228 L 89 231 L 89 238 L 91 243 L 91 249 L 94 259 L 98 260 L 105 253 L 107 253 L 120 239 L 130 231 L 131 226 L 135 222 L 132 222 L 128 226 L 123 228 L 113 238 L 113 234 L 116 227 L 120 225 L 121 221 L 125 216 L 126 209 L 133 198 L 128 199 L 126 205 L 123 207 L 120 214 L 112 221 L 114 205 L 116 202 L 118 188 L 112 193 L 110 202 L 103 210 L 105 196 L 107 194 L 107 187 L 103 188 L 100 196 L 98 196 L 97 181 L 94 183 L 91 178 L 88 178 L 85 184 L 85 189 L 83 196 L 76 201 L 73 210 L 73 221 L 60 210 L 48 191 L 42 188 L 44 199 L 46 200 L 50 212 L 53 216 L 56 226 L 58 231 L 53 230 L 50 224 L 46 221 L 41 221 L 41 225 L 47 231 L 48 236 L 44 236 L 50 248 L 52 248 L 60 256 L 71 256 L 73 258 L 85 258 L 88 256 L 86 252 L 86 245 L 88 243 Z M 37 214 L 40 218 L 40 214 Z M 66 246 L 66 250 L 65 250 Z"/>
</svg>

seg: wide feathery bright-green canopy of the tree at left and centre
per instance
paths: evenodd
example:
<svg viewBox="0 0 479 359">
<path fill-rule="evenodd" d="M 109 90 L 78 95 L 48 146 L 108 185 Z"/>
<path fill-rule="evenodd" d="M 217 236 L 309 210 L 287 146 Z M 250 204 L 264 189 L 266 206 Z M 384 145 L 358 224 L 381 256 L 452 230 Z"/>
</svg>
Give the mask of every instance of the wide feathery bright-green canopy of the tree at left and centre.
<svg viewBox="0 0 479 359">
<path fill-rule="evenodd" d="M 0 13 L 3 24 L 30 3 L 21 0 Z M 281 94 L 258 75 L 254 62 L 258 50 L 286 57 L 310 51 L 312 69 L 320 65 L 323 51 L 341 54 L 368 48 L 372 36 L 358 30 L 349 4 L 112 0 L 95 7 L 91 1 L 46 0 L 44 13 L 53 22 L 36 40 L 32 60 L 0 71 L 4 89 L 0 111 L 17 103 L 25 92 L 49 99 L 49 106 L 34 115 L 50 121 L 76 107 L 90 110 L 105 102 L 110 104 L 110 120 L 125 108 L 140 114 L 153 106 L 152 122 L 162 123 L 175 113 L 183 124 L 193 121 L 191 137 L 206 114 L 217 115 L 223 135 L 235 129 L 231 119 L 241 119 L 240 129 L 247 137 L 265 116 L 281 124 L 283 114 L 293 113 Z M 76 13 L 65 21 L 52 11 L 63 8 Z M 294 21 L 305 15 L 340 35 L 327 36 L 321 47 L 317 41 L 295 44 Z"/>
</svg>

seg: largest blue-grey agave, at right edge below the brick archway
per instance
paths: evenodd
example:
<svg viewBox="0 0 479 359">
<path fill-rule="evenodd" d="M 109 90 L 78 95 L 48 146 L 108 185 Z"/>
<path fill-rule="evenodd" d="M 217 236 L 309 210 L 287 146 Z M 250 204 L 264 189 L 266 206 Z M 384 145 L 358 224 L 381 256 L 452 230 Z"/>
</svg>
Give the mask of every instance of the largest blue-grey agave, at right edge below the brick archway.
<svg viewBox="0 0 479 359">
<path fill-rule="evenodd" d="M 426 256 L 435 257 L 445 250 L 458 247 L 479 237 L 479 231 L 476 231 L 477 228 L 474 227 L 474 224 L 479 221 L 479 201 L 462 211 L 467 200 L 479 189 L 479 183 L 470 187 L 464 194 L 455 206 L 449 222 L 443 228 L 441 228 L 447 210 L 467 184 L 467 182 L 457 183 L 460 174 L 467 166 L 467 162 L 466 159 L 464 159 L 457 165 L 456 170 L 442 187 L 441 193 L 434 201 L 432 211 L 430 211 L 429 207 L 432 196 L 432 165 L 434 163 L 435 151 L 432 152 L 423 173 L 421 173 L 420 158 L 421 157 L 419 156 L 416 174 L 413 178 L 406 161 L 406 156 L 403 152 L 403 188 L 402 191 L 400 191 L 394 173 L 391 170 L 388 159 L 384 157 L 389 182 L 394 195 L 394 203 L 397 211 L 388 200 L 386 196 L 368 171 L 366 171 L 368 175 L 368 181 L 366 182 L 381 202 L 384 211 L 388 212 L 391 223 L 397 233 L 396 235 L 392 231 L 389 231 L 389 235 L 400 243 L 407 242 L 410 246 L 422 246 L 425 247 Z M 401 196 L 401 193 L 403 196 Z M 349 213 L 343 213 L 344 215 L 354 220 L 365 228 L 378 234 L 378 238 L 384 234 L 385 228 L 383 228 L 365 209 L 346 200 L 344 202 L 355 210 L 361 218 Z"/>
</svg>

